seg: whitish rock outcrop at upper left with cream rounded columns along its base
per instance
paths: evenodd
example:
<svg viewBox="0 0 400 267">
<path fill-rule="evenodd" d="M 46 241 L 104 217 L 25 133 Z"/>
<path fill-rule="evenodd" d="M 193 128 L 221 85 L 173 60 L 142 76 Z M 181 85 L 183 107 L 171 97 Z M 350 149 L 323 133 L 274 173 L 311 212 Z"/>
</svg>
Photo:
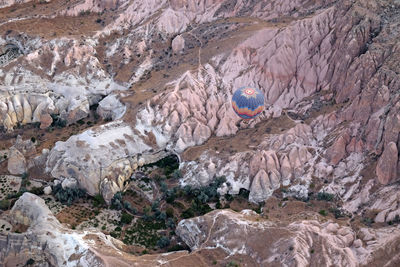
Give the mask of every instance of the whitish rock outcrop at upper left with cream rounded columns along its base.
<svg viewBox="0 0 400 267">
<path fill-rule="evenodd" d="M 8 40 L 26 51 L 18 59 L 22 65 L 0 73 L 0 124 L 7 130 L 34 122 L 46 128 L 51 114 L 76 122 L 88 116 L 89 106 L 101 95 L 126 89 L 104 71 L 95 56 L 95 40 L 26 39 Z M 44 58 L 51 59 L 50 67 Z"/>
</svg>

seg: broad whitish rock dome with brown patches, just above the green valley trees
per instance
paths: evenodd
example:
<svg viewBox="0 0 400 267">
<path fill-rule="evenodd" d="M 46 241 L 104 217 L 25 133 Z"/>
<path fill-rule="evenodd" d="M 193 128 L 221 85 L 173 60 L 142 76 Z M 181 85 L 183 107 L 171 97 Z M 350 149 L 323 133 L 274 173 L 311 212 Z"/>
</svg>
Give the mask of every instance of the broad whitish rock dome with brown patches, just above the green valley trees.
<svg viewBox="0 0 400 267">
<path fill-rule="evenodd" d="M 89 195 L 101 193 L 109 202 L 133 170 L 167 155 L 151 149 L 131 126 L 117 120 L 57 142 L 46 170 L 55 178 L 76 179 Z"/>
</svg>

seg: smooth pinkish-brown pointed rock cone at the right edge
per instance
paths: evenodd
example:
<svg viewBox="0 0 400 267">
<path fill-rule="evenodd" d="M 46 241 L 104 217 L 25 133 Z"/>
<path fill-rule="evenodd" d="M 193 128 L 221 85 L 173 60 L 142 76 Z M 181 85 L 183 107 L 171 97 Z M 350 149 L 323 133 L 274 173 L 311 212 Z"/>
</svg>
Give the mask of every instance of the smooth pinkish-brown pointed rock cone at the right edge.
<svg viewBox="0 0 400 267">
<path fill-rule="evenodd" d="M 385 147 L 376 166 L 376 175 L 381 184 L 386 185 L 397 180 L 397 160 L 397 146 L 394 142 L 390 142 Z"/>
</svg>

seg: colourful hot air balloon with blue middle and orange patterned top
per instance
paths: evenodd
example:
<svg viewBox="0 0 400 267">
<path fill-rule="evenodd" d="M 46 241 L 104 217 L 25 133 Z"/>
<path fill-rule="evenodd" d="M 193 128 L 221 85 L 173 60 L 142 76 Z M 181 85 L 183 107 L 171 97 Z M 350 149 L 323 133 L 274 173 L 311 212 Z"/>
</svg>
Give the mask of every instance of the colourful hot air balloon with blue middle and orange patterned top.
<svg viewBox="0 0 400 267">
<path fill-rule="evenodd" d="M 241 87 L 232 97 L 232 107 L 239 117 L 253 119 L 264 110 L 264 94 L 252 87 Z"/>
</svg>

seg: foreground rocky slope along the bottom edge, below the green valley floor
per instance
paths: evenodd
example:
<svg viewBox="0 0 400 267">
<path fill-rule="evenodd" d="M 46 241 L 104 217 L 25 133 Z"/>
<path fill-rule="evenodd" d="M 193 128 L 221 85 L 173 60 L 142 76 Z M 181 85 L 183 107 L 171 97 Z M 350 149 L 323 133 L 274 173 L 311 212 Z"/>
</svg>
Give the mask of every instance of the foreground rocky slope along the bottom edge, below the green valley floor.
<svg viewBox="0 0 400 267">
<path fill-rule="evenodd" d="M 318 218 L 286 225 L 265 220 L 251 210 L 221 210 L 179 223 L 177 234 L 193 253 L 137 257 L 124 252 L 124 245 L 112 237 L 66 229 L 44 201 L 30 193 L 15 203 L 8 220 L 27 230 L 2 236 L 4 266 L 24 264 L 28 259 L 37 266 L 208 266 L 217 255 L 224 255 L 228 263 L 240 259 L 246 266 L 359 266 L 382 260 L 383 251 L 397 246 L 400 235 L 396 227 L 361 228 L 356 234 L 350 227 L 322 223 Z M 398 254 L 392 256 L 391 264 L 398 262 Z"/>
</svg>

